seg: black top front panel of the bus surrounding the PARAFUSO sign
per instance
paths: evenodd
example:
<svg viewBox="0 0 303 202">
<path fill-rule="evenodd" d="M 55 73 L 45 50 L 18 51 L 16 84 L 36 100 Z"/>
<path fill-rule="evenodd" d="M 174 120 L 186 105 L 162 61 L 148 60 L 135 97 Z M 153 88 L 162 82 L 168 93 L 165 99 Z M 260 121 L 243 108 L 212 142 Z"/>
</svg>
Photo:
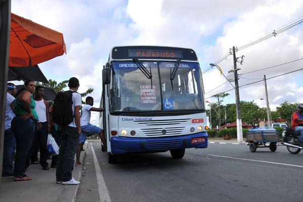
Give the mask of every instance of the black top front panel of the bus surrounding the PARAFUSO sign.
<svg viewBox="0 0 303 202">
<path fill-rule="evenodd" d="M 121 46 L 114 47 L 110 53 L 112 60 L 124 59 L 169 59 L 197 61 L 192 49 L 163 46 Z"/>
</svg>

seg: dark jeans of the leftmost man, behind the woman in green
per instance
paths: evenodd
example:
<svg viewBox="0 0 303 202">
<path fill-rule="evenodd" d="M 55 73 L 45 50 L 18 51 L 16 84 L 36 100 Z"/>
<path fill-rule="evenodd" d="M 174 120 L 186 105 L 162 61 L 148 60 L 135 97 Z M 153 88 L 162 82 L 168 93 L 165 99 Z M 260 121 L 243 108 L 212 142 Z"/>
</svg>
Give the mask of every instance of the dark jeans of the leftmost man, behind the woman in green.
<svg viewBox="0 0 303 202">
<path fill-rule="evenodd" d="M 3 145 L 3 170 L 2 175 L 13 175 L 13 161 L 16 150 L 16 139 L 12 129 L 7 129 L 4 132 Z"/>
</svg>

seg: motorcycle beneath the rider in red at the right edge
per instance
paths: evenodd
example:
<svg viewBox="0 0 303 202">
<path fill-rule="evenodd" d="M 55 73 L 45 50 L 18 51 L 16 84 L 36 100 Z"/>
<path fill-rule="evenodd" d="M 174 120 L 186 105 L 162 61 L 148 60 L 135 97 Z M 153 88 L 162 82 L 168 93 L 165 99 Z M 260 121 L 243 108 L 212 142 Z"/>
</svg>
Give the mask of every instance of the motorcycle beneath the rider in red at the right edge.
<svg viewBox="0 0 303 202">
<path fill-rule="evenodd" d="M 291 128 L 286 128 L 285 136 L 283 139 L 283 145 L 292 154 L 297 154 L 303 147 L 299 145 L 300 133 L 293 131 Z"/>
</svg>

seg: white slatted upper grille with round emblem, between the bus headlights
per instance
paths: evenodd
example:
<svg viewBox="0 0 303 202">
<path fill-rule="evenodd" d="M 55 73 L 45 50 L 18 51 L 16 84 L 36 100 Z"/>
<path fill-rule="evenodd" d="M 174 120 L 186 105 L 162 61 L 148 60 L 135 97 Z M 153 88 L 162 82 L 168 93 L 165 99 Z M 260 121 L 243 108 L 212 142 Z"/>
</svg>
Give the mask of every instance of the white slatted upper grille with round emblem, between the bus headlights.
<svg viewBox="0 0 303 202">
<path fill-rule="evenodd" d="M 180 135 L 183 133 L 185 127 L 169 127 L 169 128 L 149 128 L 141 129 L 146 136 L 155 135 Z"/>
</svg>

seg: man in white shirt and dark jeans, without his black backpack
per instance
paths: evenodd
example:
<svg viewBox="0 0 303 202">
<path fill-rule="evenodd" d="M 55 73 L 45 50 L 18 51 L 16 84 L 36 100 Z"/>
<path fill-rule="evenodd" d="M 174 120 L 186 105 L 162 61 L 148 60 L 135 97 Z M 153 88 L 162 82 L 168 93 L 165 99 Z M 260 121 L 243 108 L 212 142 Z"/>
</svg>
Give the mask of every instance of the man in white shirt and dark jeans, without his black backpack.
<svg viewBox="0 0 303 202">
<path fill-rule="evenodd" d="M 77 185 L 79 181 L 72 176 L 75 154 L 78 147 L 79 136 L 81 134 L 80 127 L 80 106 L 81 95 L 76 91 L 79 89 L 79 80 L 76 77 L 71 77 L 68 82 L 68 87 L 72 93 L 72 111 L 73 121 L 68 126 L 60 126 L 61 143 L 59 150 L 59 160 L 56 171 L 56 183 L 63 185 Z"/>
</svg>

